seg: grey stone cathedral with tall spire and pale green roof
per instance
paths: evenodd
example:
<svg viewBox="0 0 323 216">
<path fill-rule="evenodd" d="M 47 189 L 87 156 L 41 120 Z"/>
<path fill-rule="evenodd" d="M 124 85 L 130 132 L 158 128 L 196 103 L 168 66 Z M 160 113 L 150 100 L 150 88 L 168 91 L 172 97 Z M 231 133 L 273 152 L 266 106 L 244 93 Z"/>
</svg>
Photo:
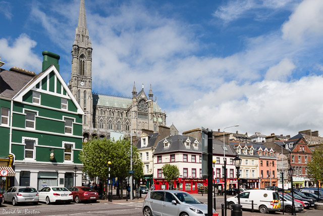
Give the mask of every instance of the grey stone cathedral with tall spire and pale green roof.
<svg viewBox="0 0 323 216">
<path fill-rule="evenodd" d="M 148 97 L 134 83 L 132 97 L 115 97 L 92 93 L 92 45 L 86 26 L 85 3 L 81 0 L 78 24 L 72 48 L 72 74 L 69 88 L 81 105 L 83 141 L 91 137 L 110 138 L 110 133 L 140 136 L 141 129 L 158 132 L 158 125 L 166 126 L 166 112 L 153 101 L 150 85 Z M 95 52 L 95 51 L 94 51 Z"/>
</svg>

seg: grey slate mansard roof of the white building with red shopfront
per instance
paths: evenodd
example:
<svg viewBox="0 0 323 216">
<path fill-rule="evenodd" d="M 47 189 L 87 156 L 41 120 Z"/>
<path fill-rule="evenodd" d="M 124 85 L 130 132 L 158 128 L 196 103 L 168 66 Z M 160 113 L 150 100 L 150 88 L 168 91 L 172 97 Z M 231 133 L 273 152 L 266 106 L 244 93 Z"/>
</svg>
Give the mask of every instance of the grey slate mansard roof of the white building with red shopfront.
<svg viewBox="0 0 323 216">
<path fill-rule="evenodd" d="M 184 145 L 184 142 L 187 140 L 187 138 L 190 140 L 191 144 L 193 144 L 196 140 L 195 138 L 183 136 L 183 135 L 175 135 L 175 136 L 170 136 L 168 138 L 165 138 L 170 143 L 168 149 L 164 149 L 165 139 L 160 140 L 157 143 L 154 154 L 164 153 L 164 152 L 175 152 L 175 151 L 201 153 L 202 143 L 198 141 L 198 149 L 194 149 L 193 145 L 190 145 L 190 148 L 187 149 L 186 146 Z"/>
</svg>

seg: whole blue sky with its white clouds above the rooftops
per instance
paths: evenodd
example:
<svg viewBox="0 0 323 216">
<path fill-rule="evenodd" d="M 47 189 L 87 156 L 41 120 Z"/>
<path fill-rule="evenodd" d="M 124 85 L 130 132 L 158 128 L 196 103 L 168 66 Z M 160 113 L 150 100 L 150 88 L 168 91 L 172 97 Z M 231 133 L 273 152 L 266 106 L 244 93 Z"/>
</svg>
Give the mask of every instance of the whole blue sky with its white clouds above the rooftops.
<svg viewBox="0 0 323 216">
<path fill-rule="evenodd" d="M 38 73 L 41 52 L 71 73 L 79 0 L 0 0 L 0 57 Z M 323 131 L 323 1 L 85 0 L 93 91 L 152 85 L 179 131 Z"/>
</svg>

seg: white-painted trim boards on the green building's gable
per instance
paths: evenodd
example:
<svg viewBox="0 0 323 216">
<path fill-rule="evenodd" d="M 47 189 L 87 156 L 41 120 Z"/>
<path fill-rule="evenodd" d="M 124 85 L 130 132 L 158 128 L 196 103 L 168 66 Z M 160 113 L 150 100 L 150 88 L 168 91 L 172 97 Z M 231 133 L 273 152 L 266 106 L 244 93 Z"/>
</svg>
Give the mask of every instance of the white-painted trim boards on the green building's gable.
<svg viewBox="0 0 323 216">
<path fill-rule="evenodd" d="M 61 74 L 58 72 L 58 70 L 56 69 L 56 67 L 54 65 L 51 65 L 49 68 L 47 68 L 47 70 L 45 70 L 44 72 L 42 72 L 42 74 L 40 76 L 38 76 L 35 80 L 32 80 L 32 84 L 30 84 L 26 89 L 24 89 L 25 88 L 24 87 L 23 88 L 24 90 L 22 92 L 19 92 L 18 94 L 16 94 L 13 97 L 13 100 L 22 103 L 23 102 L 23 100 L 22 100 L 23 99 L 23 96 L 25 94 L 27 94 L 30 90 L 33 90 L 33 89 L 36 90 L 35 87 L 36 87 L 36 84 L 38 84 L 38 83 L 39 83 L 40 89 L 37 89 L 37 92 L 44 92 L 46 94 L 57 95 L 56 93 L 52 93 L 52 92 L 49 92 L 49 91 L 41 90 L 41 80 L 43 78 L 49 76 L 49 73 L 51 71 L 54 72 L 55 76 L 57 77 L 56 79 L 58 79 L 61 82 L 62 89 L 64 89 L 66 91 L 67 95 L 68 95 L 68 96 L 63 95 L 63 91 L 61 91 L 62 94 L 60 94 L 59 97 L 71 99 L 73 101 L 73 103 L 75 104 L 75 106 L 77 107 L 78 114 L 84 115 L 83 109 L 77 103 L 77 101 L 74 98 L 73 94 L 71 93 L 70 89 L 67 87 L 67 84 L 65 83 L 63 77 L 61 76 Z M 55 83 L 57 83 L 57 82 L 55 82 Z M 29 84 L 29 82 L 26 85 L 28 85 L 28 84 Z M 49 82 L 47 82 L 47 85 L 48 84 L 49 84 Z M 47 89 L 48 89 L 48 86 L 47 86 Z M 55 85 L 55 89 L 56 89 L 56 85 Z"/>
</svg>

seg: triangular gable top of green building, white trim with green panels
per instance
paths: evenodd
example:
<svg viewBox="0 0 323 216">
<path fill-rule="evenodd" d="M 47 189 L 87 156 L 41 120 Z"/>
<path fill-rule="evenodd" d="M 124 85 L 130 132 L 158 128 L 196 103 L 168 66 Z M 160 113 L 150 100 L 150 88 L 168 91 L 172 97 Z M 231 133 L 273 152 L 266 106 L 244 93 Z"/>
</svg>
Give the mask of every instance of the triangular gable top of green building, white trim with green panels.
<svg viewBox="0 0 323 216">
<path fill-rule="evenodd" d="M 77 103 L 63 77 L 54 65 L 51 65 L 45 71 L 37 74 L 34 79 L 27 83 L 25 87 L 13 97 L 14 101 L 23 102 L 23 96 L 30 90 L 70 99 L 77 107 L 77 112 L 84 115 L 83 109 Z"/>
</svg>

